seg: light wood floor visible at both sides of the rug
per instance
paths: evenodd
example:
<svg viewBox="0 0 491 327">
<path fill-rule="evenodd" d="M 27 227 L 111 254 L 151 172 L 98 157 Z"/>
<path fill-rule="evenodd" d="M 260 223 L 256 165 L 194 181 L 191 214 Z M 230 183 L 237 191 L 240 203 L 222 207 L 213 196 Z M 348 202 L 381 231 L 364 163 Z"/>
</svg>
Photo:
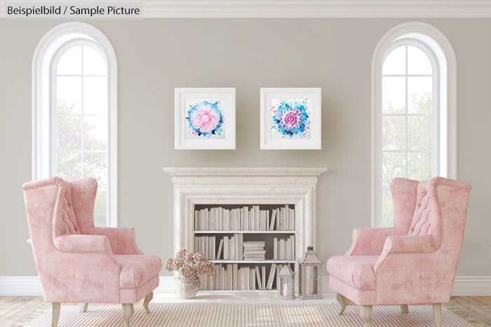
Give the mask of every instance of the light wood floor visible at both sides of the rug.
<svg viewBox="0 0 491 327">
<path fill-rule="evenodd" d="M 32 296 L 0 297 L 0 326 L 18 326 L 18 321 L 44 304 L 43 298 Z M 491 296 L 456 296 L 448 304 L 467 316 L 491 326 Z M 445 305 L 447 306 L 447 305 Z"/>
</svg>

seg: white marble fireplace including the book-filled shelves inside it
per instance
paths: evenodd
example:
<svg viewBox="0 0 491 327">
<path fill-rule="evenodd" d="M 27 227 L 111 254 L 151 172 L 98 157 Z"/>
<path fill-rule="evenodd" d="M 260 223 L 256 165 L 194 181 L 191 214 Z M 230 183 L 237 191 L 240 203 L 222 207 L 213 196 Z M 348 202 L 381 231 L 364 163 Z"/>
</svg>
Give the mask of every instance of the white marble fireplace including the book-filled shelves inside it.
<svg viewBox="0 0 491 327">
<path fill-rule="evenodd" d="M 296 260 L 307 246 L 316 246 L 316 182 L 327 168 L 163 168 L 163 171 L 172 176 L 174 185 L 175 253 L 182 248 L 203 252 L 220 271 L 218 275 L 203 277 L 203 289 L 276 289 L 276 269 L 289 262 L 298 272 Z M 244 225 L 245 211 L 248 219 L 256 214 L 259 219 L 247 220 Z M 248 250 L 245 257 L 244 244 Z M 260 256 L 263 253 L 264 260 Z M 298 285 L 295 289 L 298 290 Z"/>
</svg>

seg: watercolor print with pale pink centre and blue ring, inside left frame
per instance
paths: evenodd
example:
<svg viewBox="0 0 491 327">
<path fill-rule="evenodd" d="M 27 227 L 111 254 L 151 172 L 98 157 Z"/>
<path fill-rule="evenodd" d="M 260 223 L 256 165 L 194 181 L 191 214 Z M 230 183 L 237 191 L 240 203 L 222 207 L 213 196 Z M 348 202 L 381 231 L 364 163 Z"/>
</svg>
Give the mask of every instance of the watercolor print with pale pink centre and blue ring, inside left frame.
<svg viewBox="0 0 491 327">
<path fill-rule="evenodd" d="M 186 138 L 224 139 L 225 100 L 186 99 Z"/>
</svg>

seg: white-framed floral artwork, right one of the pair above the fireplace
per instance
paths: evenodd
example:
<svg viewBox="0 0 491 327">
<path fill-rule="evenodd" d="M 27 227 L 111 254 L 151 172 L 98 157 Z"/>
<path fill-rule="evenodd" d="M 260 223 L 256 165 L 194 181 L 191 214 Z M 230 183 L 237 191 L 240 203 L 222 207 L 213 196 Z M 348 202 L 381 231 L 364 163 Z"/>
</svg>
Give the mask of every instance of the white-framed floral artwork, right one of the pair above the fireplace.
<svg viewBox="0 0 491 327">
<path fill-rule="evenodd" d="M 321 149 L 321 88 L 261 88 L 261 149 Z"/>
</svg>

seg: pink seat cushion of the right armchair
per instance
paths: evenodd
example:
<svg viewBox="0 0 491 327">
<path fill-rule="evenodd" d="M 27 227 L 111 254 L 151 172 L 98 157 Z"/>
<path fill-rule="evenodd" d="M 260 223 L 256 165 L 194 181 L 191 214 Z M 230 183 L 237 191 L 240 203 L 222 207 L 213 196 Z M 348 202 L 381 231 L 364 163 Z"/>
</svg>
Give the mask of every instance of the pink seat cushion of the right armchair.
<svg viewBox="0 0 491 327">
<path fill-rule="evenodd" d="M 375 290 L 377 278 L 373 267 L 378 255 L 335 255 L 327 262 L 331 276 L 359 290 Z"/>
</svg>

